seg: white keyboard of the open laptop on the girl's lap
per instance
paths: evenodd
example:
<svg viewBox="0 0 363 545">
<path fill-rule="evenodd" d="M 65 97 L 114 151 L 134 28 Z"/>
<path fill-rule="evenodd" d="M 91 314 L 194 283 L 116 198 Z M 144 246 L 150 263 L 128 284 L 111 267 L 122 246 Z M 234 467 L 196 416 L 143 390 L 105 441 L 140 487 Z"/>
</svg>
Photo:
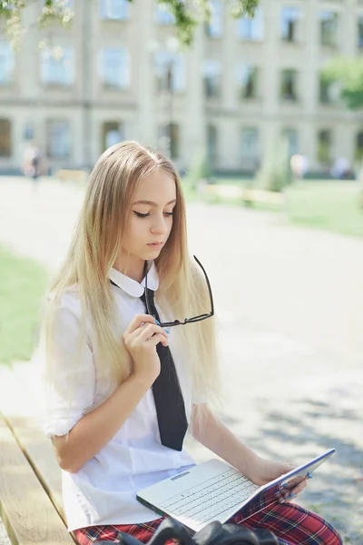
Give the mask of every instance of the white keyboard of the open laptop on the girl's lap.
<svg viewBox="0 0 363 545">
<path fill-rule="evenodd" d="M 174 516 L 207 522 L 225 510 L 238 506 L 260 487 L 238 471 L 224 471 L 216 477 L 184 490 L 163 502 Z"/>
</svg>

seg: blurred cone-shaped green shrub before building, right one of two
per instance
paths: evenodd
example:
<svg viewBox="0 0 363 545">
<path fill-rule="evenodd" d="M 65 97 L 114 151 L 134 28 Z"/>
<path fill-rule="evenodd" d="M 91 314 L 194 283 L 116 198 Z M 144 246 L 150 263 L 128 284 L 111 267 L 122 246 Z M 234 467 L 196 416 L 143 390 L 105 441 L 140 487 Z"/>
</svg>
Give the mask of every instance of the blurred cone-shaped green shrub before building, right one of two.
<svg viewBox="0 0 363 545">
<path fill-rule="evenodd" d="M 280 138 L 263 157 L 260 170 L 256 174 L 255 185 L 265 191 L 281 192 L 292 182 L 290 167 L 289 140 Z"/>
</svg>

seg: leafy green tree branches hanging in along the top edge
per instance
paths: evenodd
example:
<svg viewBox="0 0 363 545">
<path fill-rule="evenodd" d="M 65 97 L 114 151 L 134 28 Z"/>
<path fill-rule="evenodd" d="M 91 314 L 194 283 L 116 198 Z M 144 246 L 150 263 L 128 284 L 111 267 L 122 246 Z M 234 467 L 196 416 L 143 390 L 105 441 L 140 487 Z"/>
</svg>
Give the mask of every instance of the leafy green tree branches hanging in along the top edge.
<svg viewBox="0 0 363 545">
<path fill-rule="evenodd" d="M 17 41 L 23 32 L 22 10 L 34 0 L 0 0 L 0 15 L 7 17 L 8 32 Z M 137 2 L 138 0 L 128 0 Z M 140 0 L 141 1 L 141 0 Z M 183 0 L 157 0 L 159 4 L 169 7 L 175 17 L 178 37 L 183 45 L 191 45 L 194 29 L 201 22 L 211 18 L 212 0 L 194 0 L 195 8 L 191 9 Z M 227 1 L 227 0 L 222 0 Z M 231 15 L 253 16 L 260 0 L 231 0 Z M 44 8 L 39 18 L 39 25 L 53 24 L 69 25 L 74 14 L 66 7 L 65 0 L 44 0 Z"/>
</svg>

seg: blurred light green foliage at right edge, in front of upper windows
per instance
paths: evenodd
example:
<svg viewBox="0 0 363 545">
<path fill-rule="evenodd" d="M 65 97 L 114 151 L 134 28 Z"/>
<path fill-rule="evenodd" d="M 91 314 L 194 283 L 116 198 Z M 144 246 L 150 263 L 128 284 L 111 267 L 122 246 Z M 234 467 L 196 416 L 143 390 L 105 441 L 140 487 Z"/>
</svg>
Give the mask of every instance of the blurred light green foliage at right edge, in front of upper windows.
<svg viewBox="0 0 363 545">
<path fill-rule="evenodd" d="M 338 57 L 324 68 L 327 82 L 338 82 L 340 97 L 351 110 L 363 107 L 363 59 Z"/>
</svg>

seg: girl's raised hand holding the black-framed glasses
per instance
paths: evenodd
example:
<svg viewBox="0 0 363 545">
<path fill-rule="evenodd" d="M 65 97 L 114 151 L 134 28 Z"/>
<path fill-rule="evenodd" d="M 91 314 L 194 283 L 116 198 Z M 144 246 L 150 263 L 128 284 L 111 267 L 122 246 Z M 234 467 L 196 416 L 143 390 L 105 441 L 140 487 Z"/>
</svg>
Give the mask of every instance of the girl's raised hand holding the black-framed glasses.
<svg viewBox="0 0 363 545">
<path fill-rule="evenodd" d="M 137 314 L 123 333 L 123 342 L 130 352 L 133 362 L 133 373 L 142 379 L 152 382 L 160 374 L 160 359 L 156 345 L 162 342 L 168 346 L 167 333 L 157 325 L 150 314 Z"/>
</svg>

